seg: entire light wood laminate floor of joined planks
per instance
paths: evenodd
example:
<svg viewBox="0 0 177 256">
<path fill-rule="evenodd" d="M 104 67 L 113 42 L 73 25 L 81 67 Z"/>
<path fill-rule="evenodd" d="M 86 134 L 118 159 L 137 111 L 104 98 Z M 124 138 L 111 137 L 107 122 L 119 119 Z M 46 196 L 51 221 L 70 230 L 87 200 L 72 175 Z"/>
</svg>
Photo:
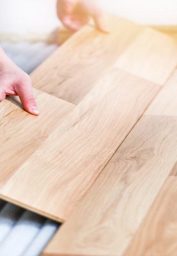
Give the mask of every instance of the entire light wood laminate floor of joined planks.
<svg viewBox="0 0 177 256">
<path fill-rule="evenodd" d="M 65 222 L 43 254 L 175 256 L 177 41 L 108 15 L 1 103 L 0 197 Z"/>
</svg>

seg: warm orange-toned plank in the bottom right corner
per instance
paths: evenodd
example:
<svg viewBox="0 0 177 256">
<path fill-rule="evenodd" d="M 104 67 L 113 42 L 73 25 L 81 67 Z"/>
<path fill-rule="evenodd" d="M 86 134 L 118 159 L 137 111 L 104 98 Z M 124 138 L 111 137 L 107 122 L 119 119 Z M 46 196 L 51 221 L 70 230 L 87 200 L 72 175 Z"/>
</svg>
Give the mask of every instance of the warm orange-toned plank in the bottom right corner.
<svg viewBox="0 0 177 256">
<path fill-rule="evenodd" d="M 170 176 L 124 256 L 176 256 L 177 177 Z"/>
</svg>

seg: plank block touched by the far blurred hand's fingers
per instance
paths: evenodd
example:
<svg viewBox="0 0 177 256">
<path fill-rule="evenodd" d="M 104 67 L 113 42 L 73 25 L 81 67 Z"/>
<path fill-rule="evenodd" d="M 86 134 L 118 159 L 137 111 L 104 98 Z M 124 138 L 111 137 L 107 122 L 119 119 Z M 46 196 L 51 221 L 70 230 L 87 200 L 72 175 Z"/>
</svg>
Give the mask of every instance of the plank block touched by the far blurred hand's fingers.
<svg viewBox="0 0 177 256">
<path fill-rule="evenodd" d="M 143 30 L 115 15 L 107 22 L 109 34 L 88 25 L 72 35 L 31 74 L 35 88 L 78 104 Z"/>
</svg>

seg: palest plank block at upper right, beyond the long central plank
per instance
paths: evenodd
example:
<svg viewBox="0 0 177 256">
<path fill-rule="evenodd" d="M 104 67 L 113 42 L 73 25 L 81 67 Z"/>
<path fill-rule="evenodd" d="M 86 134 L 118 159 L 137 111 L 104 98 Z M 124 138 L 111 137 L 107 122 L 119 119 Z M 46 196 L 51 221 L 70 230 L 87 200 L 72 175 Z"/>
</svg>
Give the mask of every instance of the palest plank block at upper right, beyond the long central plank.
<svg viewBox="0 0 177 256">
<path fill-rule="evenodd" d="M 163 85 L 177 63 L 177 40 L 146 28 L 122 53 L 116 67 Z"/>
</svg>

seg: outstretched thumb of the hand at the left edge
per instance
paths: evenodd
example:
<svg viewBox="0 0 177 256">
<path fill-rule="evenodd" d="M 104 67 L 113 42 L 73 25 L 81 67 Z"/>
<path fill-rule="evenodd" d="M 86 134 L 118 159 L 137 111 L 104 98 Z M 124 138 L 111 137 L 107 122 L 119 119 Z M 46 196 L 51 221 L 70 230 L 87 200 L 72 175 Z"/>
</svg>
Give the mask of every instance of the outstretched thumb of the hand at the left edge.
<svg viewBox="0 0 177 256">
<path fill-rule="evenodd" d="M 31 82 L 24 83 L 15 89 L 24 109 L 32 115 L 39 115 L 39 109 L 37 108 L 37 104 L 33 96 Z"/>
</svg>

